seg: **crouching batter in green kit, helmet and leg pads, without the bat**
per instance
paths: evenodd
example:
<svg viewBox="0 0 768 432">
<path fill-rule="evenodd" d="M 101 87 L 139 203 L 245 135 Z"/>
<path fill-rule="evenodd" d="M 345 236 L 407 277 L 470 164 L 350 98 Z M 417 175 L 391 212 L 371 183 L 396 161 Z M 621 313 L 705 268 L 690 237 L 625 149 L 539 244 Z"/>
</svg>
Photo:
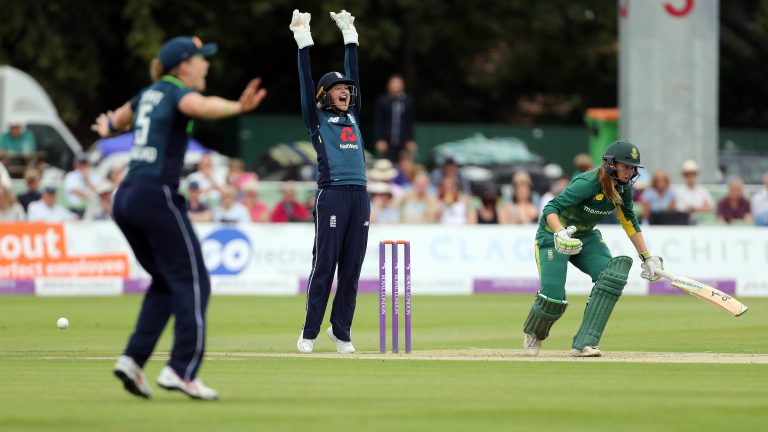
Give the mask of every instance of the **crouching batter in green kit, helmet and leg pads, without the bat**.
<svg viewBox="0 0 768 432">
<path fill-rule="evenodd" d="M 651 255 L 632 211 L 632 184 L 638 177 L 640 152 L 628 141 L 612 143 L 599 168 L 574 177 L 568 187 L 542 211 L 536 232 L 536 263 L 541 288 L 536 294 L 523 331 L 525 353 L 536 356 L 541 341 L 565 312 L 567 265 L 576 266 L 595 283 L 581 327 L 573 338 L 571 355 L 599 357 L 598 345 L 613 307 L 627 284 L 632 258 L 611 257 L 595 225 L 606 215 L 617 213 L 622 228 L 643 260 L 641 277 L 654 282 L 663 260 Z M 567 228 L 564 228 L 567 227 Z"/>
</svg>

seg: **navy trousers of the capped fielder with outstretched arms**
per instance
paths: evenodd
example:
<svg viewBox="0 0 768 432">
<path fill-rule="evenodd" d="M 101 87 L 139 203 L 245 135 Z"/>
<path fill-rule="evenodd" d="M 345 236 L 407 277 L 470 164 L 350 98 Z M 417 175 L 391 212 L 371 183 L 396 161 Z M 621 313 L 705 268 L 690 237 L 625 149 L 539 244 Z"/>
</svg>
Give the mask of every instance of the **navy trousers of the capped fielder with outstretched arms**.
<svg viewBox="0 0 768 432">
<path fill-rule="evenodd" d="M 125 355 L 143 367 L 173 315 L 168 364 L 180 377 L 194 379 L 205 350 L 211 284 L 186 201 L 158 179 L 129 179 L 115 193 L 113 213 L 134 255 L 152 276 Z"/>
</svg>

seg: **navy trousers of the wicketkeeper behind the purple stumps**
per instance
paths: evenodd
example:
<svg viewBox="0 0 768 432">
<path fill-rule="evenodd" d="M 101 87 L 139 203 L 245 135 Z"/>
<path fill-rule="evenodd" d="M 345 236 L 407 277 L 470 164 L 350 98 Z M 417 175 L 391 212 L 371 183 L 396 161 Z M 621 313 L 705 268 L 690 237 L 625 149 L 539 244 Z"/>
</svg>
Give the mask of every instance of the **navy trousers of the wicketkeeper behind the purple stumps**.
<svg viewBox="0 0 768 432">
<path fill-rule="evenodd" d="M 315 245 L 307 287 L 305 339 L 315 339 L 320 332 L 338 265 L 331 326 L 338 339 L 352 340 L 350 330 L 357 283 L 368 245 L 370 215 L 371 202 L 365 186 L 332 186 L 316 192 Z"/>
</svg>

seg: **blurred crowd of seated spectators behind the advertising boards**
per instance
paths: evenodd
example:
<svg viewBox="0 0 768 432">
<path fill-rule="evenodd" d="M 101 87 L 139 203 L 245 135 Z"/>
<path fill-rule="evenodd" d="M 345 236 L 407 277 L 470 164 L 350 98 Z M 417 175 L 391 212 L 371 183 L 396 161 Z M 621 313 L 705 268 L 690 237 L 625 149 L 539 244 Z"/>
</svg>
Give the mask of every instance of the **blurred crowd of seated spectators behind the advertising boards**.
<svg viewBox="0 0 768 432">
<path fill-rule="evenodd" d="M 455 160 L 448 158 L 431 172 L 414 161 L 414 153 L 402 150 L 397 164 L 383 157 L 369 163 L 368 192 L 371 223 L 375 224 L 533 224 L 549 200 L 568 185 L 571 178 L 551 179 L 550 188 L 539 194 L 531 176 L 517 171 L 510 179 L 512 194 L 504 199 L 499 185 L 485 183 L 473 188 Z M 0 164 L 2 167 L 2 164 Z M 574 175 L 591 169 L 585 159 L 574 159 Z M 112 196 L 125 167 L 106 176 L 95 175 L 86 155 L 77 155 L 73 169 L 59 185 L 41 184 L 36 167 L 24 173 L 24 189 L 15 195 L 10 183 L 0 181 L 0 221 L 66 222 L 110 220 Z M 669 173 L 654 171 L 650 180 L 635 184 L 635 210 L 646 224 L 726 224 L 768 226 L 768 172 L 762 187 L 748 197 L 740 179 L 727 181 L 725 195 L 715 201 L 708 188 L 699 184 L 698 164 L 682 164 L 684 182 L 673 186 Z M 260 196 L 260 181 L 232 159 L 226 175 L 217 176 L 210 155 L 203 155 L 186 185 L 188 211 L 194 222 L 224 224 L 312 222 L 314 193 L 300 199 L 297 184 L 283 182 L 281 196 L 273 203 Z M 605 223 L 615 223 L 606 219 Z"/>
</svg>

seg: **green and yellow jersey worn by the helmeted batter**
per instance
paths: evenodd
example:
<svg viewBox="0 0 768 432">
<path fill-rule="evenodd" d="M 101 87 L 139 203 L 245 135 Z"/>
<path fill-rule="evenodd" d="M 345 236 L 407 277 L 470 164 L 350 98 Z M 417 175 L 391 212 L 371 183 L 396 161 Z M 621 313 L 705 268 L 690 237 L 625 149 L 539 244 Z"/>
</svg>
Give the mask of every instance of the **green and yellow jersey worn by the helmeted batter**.
<svg viewBox="0 0 768 432">
<path fill-rule="evenodd" d="M 544 231 L 552 233 L 552 228 L 547 224 L 547 215 L 550 213 L 557 213 L 564 227 L 576 227 L 577 231 L 573 237 L 581 237 L 591 232 L 598 222 L 614 211 L 617 212 L 619 223 L 628 237 L 640 232 L 640 225 L 632 210 L 632 187 L 617 185 L 616 190 L 621 196 L 621 205 L 614 204 L 603 194 L 597 171 L 579 174 L 560 195 L 544 206 L 537 237 Z"/>
</svg>

